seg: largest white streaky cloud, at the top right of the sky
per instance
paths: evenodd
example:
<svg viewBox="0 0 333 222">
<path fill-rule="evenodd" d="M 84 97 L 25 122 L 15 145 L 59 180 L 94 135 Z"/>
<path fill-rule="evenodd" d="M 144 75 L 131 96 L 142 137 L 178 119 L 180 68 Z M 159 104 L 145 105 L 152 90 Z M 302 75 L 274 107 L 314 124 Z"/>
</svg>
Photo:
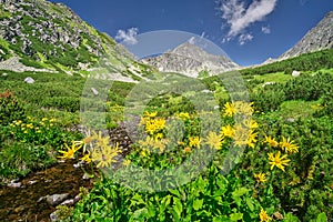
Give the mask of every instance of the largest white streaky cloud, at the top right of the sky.
<svg viewBox="0 0 333 222">
<path fill-rule="evenodd" d="M 243 0 L 218 0 L 222 18 L 230 26 L 229 37 L 235 37 L 252 23 L 263 20 L 270 14 L 278 0 L 254 0 L 248 8 Z"/>
</svg>

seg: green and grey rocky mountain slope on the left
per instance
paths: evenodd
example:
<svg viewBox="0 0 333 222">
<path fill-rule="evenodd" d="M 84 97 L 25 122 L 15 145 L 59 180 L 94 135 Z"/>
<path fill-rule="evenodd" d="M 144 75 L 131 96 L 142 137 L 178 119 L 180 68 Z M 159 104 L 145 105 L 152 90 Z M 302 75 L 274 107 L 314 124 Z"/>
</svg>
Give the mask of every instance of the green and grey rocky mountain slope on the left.
<svg viewBox="0 0 333 222">
<path fill-rule="evenodd" d="M 103 65 L 109 65 L 108 70 L 124 81 L 139 80 L 140 72 L 147 71 L 147 65 L 137 62 L 111 37 L 97 31 L 62 3 L 44 0 L 0 0 L 0 61 L 7 60 L 0 62 L 0 69 L 24 71 L 26 65 L 87 73 L 104 58 L 108 62 Z"/>
</svg>

